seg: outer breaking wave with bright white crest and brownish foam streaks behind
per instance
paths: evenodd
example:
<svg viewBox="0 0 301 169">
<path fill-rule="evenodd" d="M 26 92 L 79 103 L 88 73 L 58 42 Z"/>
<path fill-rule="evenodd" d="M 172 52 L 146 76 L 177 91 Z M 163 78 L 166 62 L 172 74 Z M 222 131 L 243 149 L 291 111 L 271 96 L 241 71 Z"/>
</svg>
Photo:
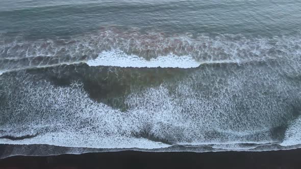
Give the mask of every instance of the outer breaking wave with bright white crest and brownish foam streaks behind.
<svg viewBox="0 0 301 169">
<path fill-rule="evenodd" d="M 10 39 L 2 35 L 0 71 L 33 69 L 64 64 L 90 66 L 194 68 L 200 64 L 299 62 L 297 37 L 246 38 L 241 35 L 166 35 L 139 29 L 101 27 L 98 32 L 74 37 Z M 296 60 L 297 59 L 297 60 Z"/>
</svg>

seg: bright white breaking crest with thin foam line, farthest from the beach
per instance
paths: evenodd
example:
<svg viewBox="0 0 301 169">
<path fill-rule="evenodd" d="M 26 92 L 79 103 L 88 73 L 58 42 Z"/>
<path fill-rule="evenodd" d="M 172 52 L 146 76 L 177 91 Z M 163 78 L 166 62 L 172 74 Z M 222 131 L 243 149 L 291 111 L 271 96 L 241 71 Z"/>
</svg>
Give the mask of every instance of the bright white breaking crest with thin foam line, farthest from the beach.
<svg viewBox="0 0 301 169">
<path fill-rule="evenodd" d="M 51 58 L 45 58 L 51 61 Z M 137 55 L 129 55 L 120 50 L 103 51 L 99 53 L 99 56 L 94 60 L 82 60 L 82 61 L 70 61 L 70 62 L 60 62 L 55 64 L 40 64 L 37 62 L 36 65 L 29 62 L 29 65 L 24 64 L 22 59 L 15 59 L 16 62 L 11 65 L 4 65 L 3 70 L 0 70 L 0 75 L 4 72 L 12 72 L 27 69 L 37 69 L 37 68 L 47 68 L 55 67 L 60 65 L 76 65 L 81 63 L 86 63 L 89 66 L 115 66 L 115 67 L 133 67 L 133 68 L 196 68 L 199 65 L 204 64 L 227 64 L 236 63 L 240 64 L 241 61 L 236 60 L 215 60 L 206 62 L 197 62 L 192 57 L 188 55 L 178 56 L 174 54 L 169 54 L 165 56 L 160 56 L 158 58 L 152 58 L 149 61 Z M 33 59 L 34 60 L 34 59 Z"/>
</svg>

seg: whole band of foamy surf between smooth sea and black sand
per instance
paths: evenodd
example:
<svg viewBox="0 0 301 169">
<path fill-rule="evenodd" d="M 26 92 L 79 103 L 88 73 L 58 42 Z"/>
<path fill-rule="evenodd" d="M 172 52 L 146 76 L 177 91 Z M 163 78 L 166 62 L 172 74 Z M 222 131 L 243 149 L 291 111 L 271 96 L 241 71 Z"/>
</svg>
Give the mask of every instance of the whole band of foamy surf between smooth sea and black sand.
<svg viewBox="0 0 301 169">
<path fill-rule="evenodd" d="M 0 144 L 12 151 L 0 156 L 299 148 L 300 39 L 114 26 L 5 39 Z"/>
</svg>

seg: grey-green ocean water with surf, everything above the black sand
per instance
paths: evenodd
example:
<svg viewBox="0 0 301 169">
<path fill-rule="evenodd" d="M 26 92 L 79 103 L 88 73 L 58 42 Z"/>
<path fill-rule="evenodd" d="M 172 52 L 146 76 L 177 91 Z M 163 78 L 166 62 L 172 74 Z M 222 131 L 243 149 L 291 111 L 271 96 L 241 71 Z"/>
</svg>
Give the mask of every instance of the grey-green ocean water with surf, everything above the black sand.
<svg viewBox="0 0 301 169">
<path fill-rule="evenodd" d="M 0 157 L 301 147 L 301 2 L 0 2 Z"/>
</svg>

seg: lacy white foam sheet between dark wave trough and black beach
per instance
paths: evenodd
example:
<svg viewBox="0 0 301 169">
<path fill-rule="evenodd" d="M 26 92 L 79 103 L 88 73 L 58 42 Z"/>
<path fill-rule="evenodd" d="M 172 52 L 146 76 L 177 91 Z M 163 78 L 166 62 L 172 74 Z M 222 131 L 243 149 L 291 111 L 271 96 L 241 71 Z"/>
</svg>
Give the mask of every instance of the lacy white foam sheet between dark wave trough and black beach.
<svg viewBox="0 0 301 169">
<path fill-rule="evenodd" d="M 248 100 L 248 104 L 257 107 L 249 114 L 241 115 L 240 112 L 231 109 L 235 103 L 229 100 L 230 95 L 227 93 L 231 91 L 238 97 L 244 97 L 243 93 L 237 93 L 244 90 L 240 86 L 240 81 L 233 83 L 235 78 L 227 78 L 228 84 L 232 84 L 227 90 L 218 89 L 219 97 L 206 98 L 193 90 L 195 88 L 193 78 L 202 79 L 197 73 L 196 77 L 180 81 L 173 91 L 185 99 L 170 95 L 168 85 L 161 85 L 141 93 L 130 94 L 126 99 L 126 104 L 129 106 L 126 112 L 91 100 L 81 85 L 73 84 L 65 88 L 55 87 L 45 81 L 38 84 L 27 81 L 26 85 L 20 81 L 19 90 L 23 93 L 11 95 L 9 98 L 15 105 L 16 109 L 12 112 L 16 119 L 9 118 L 9 122 L 5 122 L 1 129 L 8 135 L 14 136 L 35 133 L 38 135 L 22 140 L 0 139 L 0 143 L 104 149 L 157 149 L 170 146 L 132 135 L 144 131 L 147 126 L 151 126 L 148 134 L 171 140 L 179 145 L 187 144 L 187 140 L 191 140 L 194 145 L 216 144 L 216 148 L 225 150 L 247 150 L 249 148 L 246 147 L 239 149 L 237 144 L 273 142 L 268 130 L 279 120 L 279 113 L 283 113 L 281 109 L 283 106 L 277 107 L 280 104 L 274 100 L 277 97 L 266 98 L 258 94 L 255 97 L 265 98 L 270 105 L 277 106 L 266 106 L 258 103 L 256 99 Z M 239 77 L 238 80 L 244 81 L 243 77 Z M 280 90 L 278 86 L 274 87 L 275 90 Z M 16 104 L 15 101 L 23 101 L 23 99 L 26 103 Z M 27 120 L 15 122 L 20 116 L 26 116 Z M 233 116 L 240 118 L 233 119 Z M 211 133 L 206 136 L 206 132 L 212 130 L 226 134 Z M 262 134 L 257 134 L 258 132 Z M 255 134 L 255 137 L 252 134 Z M 222 143 L 227 143 L 229 146 L 218 146 Z"/>
</svg>

